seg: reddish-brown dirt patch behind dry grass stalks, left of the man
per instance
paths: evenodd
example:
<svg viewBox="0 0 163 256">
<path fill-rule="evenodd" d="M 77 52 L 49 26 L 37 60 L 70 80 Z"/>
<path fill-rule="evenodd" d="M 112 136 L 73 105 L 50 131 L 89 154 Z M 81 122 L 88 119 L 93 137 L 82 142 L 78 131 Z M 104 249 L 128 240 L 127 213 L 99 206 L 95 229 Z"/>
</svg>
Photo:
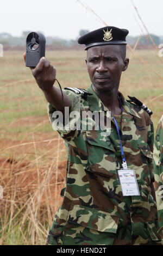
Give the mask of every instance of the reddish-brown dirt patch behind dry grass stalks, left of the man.
<svg viewBox="0 0 163 256">
<path fill-rule="evenodd" d="M 32 127 L 49 122 L 47 116 L 25 119 Z M 18 127 L 21 121 L 17 120 L 11 126 Z M 47 200 L 55 208 L 60 204 L 67 156 L 64 141 L 57 132 L 31 132 L 24 134 L 21 141 L 13 135 L 13 139 L 1 139 L 0 149 L 7 155 L 0 158 L 0 180 L 5 199 L 18 201 L 22 196 L 40 190 L 41 204 Z"/>
</svg>

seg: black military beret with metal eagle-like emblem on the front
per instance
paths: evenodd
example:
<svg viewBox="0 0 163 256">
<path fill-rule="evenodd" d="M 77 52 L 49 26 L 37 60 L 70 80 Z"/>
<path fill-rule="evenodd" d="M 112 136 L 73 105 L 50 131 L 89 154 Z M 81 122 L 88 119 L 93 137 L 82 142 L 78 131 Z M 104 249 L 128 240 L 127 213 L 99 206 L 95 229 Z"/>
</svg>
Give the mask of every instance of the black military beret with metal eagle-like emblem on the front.
<svg viewBox="0 0 163 256">
<path fill-rule="evenodd" d="M 78 43 L 85 44 L 85 50 L 98 45 L 127 45 L 128 33 L 127 29 L 108 26 L 80 36 Z"/>
</svg>

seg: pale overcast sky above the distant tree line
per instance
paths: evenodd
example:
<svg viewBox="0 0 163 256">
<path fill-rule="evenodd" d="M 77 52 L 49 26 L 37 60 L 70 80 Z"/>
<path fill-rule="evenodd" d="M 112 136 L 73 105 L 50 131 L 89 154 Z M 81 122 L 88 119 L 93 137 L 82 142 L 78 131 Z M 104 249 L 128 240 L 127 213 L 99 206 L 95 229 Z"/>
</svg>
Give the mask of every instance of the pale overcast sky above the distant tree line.
<svg viewBox="0 0 163 256">
<path fill-rule="evenodd" d="M 130 0 L 80 0 L 108 26 L 127 28 L 129 35 L 145 32 Z M 133 0 L 149 33 L 163 35 L 163 1 Z M 80 29 L 104 27 L 77 0 L 5 0 L 0 2 L 0 33 L 20 36 L 23 31 L 40 31 L 45 36 L 77 39 Z"/>
</svg>

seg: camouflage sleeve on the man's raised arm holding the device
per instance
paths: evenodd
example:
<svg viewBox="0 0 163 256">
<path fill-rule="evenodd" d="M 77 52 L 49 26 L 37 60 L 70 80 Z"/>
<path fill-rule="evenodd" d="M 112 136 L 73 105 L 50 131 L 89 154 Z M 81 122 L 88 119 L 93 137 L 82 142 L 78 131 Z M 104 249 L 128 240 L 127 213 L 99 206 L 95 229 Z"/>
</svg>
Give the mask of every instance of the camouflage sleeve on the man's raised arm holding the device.
<svg viewBox="0 0 163 256">
<path fill-rule="evenodd" d="M 63 125 L 63 115 L 60 111 L 57 111 L 51 104 L 48 103 L 48 116 L 52 123 L 53 130 L 58 131 L 60 136 L 68 141 L 78 136 L 77 123 L 80 117 L 80 96 L 71 92 L 70 90 L 63 90 L 71 99 L 71 109 L 69 113 L 69 107 L 65 109 L 65 117 L 67 119 L 66 125 Z"/>
</svg>

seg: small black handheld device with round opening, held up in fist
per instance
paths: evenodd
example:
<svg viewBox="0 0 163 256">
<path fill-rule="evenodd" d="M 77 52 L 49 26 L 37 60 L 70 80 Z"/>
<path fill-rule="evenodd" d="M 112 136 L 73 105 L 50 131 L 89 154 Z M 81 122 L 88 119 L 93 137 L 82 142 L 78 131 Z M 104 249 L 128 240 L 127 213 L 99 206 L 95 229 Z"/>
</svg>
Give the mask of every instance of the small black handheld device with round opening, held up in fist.
<svg viewBox="0 0 163 256">
<path fill-rule="evenodd" d="M 40 32 L 31 32 L 26 39 L 26 66 L 35 68 L 41 57 L 45 57 L 45 36 Z"/>
</svg>

